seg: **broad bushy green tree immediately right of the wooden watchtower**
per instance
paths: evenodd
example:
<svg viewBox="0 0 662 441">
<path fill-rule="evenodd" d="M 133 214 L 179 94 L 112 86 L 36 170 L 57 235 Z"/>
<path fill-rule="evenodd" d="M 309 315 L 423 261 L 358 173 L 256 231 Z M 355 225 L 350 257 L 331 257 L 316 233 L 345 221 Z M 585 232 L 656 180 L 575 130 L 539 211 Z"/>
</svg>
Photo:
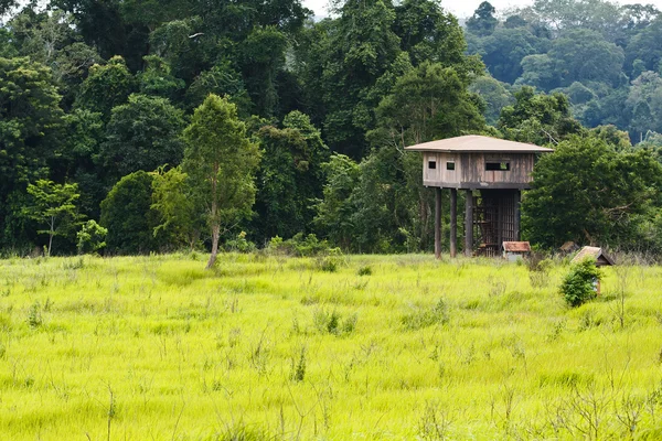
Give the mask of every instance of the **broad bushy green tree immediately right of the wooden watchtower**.
<svg viewBox="0 0 662 441">
<path fill-rule="evenodd" d="M 524 235 L 546 247 L 632 245 L 661 178 L 650 151 L 618 153 L 601 139 L 572 137 L 535 165 L 522 201 Z"/>
</svg>

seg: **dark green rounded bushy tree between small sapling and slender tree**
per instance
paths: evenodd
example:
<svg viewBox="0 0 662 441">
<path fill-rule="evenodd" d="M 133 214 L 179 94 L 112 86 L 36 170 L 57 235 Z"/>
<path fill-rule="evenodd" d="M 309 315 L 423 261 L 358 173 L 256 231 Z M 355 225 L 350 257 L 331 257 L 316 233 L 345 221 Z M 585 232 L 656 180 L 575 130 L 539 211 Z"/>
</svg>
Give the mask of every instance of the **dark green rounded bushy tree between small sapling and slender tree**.
<svg viewBox="0 0 662 441">
<path fill-rule="evenodd" d="M 152 175 L 128 174 L 102 202 L 103 227 L 108 229 L 106 249 L 113 254 L 142 254 L 158 248 L 153 230 L 158 213 L 151 209 Z"/>
</svg>

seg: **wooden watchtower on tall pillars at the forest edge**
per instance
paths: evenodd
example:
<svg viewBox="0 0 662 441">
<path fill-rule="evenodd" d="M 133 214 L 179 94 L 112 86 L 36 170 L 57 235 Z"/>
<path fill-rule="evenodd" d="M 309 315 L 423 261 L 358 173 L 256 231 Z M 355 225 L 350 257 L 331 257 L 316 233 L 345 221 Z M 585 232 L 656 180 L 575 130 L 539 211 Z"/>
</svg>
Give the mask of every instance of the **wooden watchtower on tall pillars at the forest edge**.
<svg viewBox="0 0 662 441">
<path fill-rule="evenodd" d="M 457 255 L 458 190 L 467 193 L 465 255 L 499 256 L 520 240 L 520 198 L 531 187 L 536 155 L 552 149 L 465 136 L 410 146 L 423 152 L 423 184 L 436 190 L 435 255 L 441 255 L 441 189 L 450 189 L 450 255 Z"/>
</svg>

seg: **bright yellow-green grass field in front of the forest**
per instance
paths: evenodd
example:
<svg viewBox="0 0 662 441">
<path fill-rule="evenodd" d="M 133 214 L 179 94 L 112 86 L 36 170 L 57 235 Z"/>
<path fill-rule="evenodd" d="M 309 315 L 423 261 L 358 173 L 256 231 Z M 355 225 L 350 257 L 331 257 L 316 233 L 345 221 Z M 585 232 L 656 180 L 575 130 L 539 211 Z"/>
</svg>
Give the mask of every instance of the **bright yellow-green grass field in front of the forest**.
<svg viewBox="0 0 662 441">
<path fill-rule="evenodd" d="M 0 260 L 0 439 L 662 438 L 660 267 L 204 259 Z"/>
</svg>

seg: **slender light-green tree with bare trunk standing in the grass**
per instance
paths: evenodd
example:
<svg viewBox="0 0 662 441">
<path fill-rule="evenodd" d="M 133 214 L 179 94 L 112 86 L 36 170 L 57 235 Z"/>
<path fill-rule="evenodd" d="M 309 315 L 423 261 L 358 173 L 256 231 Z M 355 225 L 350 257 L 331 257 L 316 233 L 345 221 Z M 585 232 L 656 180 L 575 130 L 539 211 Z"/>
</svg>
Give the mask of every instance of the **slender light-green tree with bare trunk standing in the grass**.
<svg viewBox="0 0 662 441">
<path fill-rule="evenodd" d="M 206 266 L 211 269 L 218 254 L 221 227 L 227 228 L 248 216 L 255 203 L 253 175 L 259 152 L 246 137 L 246 126 L 237 118 L 236 106 L 217 95 L 210 95 L 195 109 L 184 139 L 182 170 L 204 203 L 212 230 L 212 255 Z"/>
</svg>

